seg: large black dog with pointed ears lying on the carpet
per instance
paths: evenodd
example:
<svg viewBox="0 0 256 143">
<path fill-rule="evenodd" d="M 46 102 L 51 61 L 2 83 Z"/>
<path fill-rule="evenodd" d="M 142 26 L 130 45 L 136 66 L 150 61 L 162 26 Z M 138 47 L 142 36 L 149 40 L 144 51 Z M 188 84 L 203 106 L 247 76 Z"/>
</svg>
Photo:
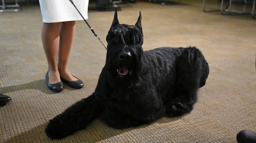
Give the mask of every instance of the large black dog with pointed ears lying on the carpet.
<svg viewBox="0 0 256 143">
<path fill-rule="evenodd" d="M 117 11 L 106 37 L 106 64 L 95 92 L 57 115 L 45 128 L 60 139 L 96 118 L 113 128 L 153 122 L 190 112 L 205 85 L 208 63 L 195 47 L 157 48 L 143 52 L 141 13 L 135 25 L 119 24 Z"/>
</svg>

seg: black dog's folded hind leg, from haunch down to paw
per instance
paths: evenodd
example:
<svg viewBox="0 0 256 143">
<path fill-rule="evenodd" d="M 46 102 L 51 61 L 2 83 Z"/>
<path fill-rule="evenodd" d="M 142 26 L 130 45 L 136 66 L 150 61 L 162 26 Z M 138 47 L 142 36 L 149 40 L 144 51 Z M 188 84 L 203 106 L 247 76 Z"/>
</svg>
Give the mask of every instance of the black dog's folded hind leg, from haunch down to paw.
<svg viewBox="0 0 256 143">
<path fill-rule="evenodd" d="M 193 110 L 198 88 L 204 85 L 204 78 L 207 78 L 209 73 L 208 64 L 205 62 L 202 53 L 194 47 L 185 48 L 183 54 L 176 59 L 173 96 L 165 104 L 165 113 L 170 117 L 178 117 Z M 204 81 L 201 81 L 202 79 Z"/>
</svg>

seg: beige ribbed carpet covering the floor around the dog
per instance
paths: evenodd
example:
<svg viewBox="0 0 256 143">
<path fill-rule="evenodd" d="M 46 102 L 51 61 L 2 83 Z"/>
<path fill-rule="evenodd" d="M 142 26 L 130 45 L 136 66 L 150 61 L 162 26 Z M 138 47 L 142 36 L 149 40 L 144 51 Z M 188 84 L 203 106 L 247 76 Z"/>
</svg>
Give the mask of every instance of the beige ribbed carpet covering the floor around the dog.
<svg viewBox="0 0 256 143">
<path fill-rule="evenodd" d="M 94 91 L 106 50 L 87 25 L 78 21 L 69 70 L 85 86 L 79 90 L 65 86 L 54 93 L 45 81 L 39 5 L 23 4 L 20 12 L 0 13 L 0 93 L 12 98 L 0 106 L 0 142 L 235 143 L 240 130 L 256 132 L 256 20 L 251 15 L 204 13 L 202 3 L 139 1 L 118 11 L 119 22 L 125 24 L 135 24 L 141 11 L 144 50 L 191 45 L 202 51 L 210 74 L 190 114 L 123 130 L 97 119 L 85 130 L 53 141 L 44 132 L 48 120 Z M 220 3 L 212 1 L 207 6 L 220 8 Z M 113 15 L 113 11 L 89 11 L 88 22 L 104 44 Z"/>
</svg>

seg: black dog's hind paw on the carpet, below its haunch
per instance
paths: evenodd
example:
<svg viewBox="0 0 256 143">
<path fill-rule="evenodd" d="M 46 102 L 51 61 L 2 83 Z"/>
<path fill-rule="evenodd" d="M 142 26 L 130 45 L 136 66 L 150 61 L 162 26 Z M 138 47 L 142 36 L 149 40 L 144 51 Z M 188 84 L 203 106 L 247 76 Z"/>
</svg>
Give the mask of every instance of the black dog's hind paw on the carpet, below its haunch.
<svg viewBox="0 0 256 143">
<path fill-rule="evenodd" d="M 185 113 L 190 112 L 193 109 L 192 106 L 188 106 L 183 103 L 169 103 L 165 106 L 165 113 L 170 117 L 179 117 Z"/>
</svg>

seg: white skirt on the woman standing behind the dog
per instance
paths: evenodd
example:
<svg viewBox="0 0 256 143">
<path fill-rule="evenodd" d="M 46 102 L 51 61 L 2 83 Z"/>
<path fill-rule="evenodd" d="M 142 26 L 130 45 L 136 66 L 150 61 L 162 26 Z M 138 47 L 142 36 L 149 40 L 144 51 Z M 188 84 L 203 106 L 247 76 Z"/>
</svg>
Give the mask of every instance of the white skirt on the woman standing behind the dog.
<svg viewBox="0 0 256 143">
<path fill-rule="evenodd" d="M 88 19 L 89 0 L 73 0 L 76 8 Z M 69 0 L 39 0 L 44 23 L 83 20 Z"/>
</svg>

